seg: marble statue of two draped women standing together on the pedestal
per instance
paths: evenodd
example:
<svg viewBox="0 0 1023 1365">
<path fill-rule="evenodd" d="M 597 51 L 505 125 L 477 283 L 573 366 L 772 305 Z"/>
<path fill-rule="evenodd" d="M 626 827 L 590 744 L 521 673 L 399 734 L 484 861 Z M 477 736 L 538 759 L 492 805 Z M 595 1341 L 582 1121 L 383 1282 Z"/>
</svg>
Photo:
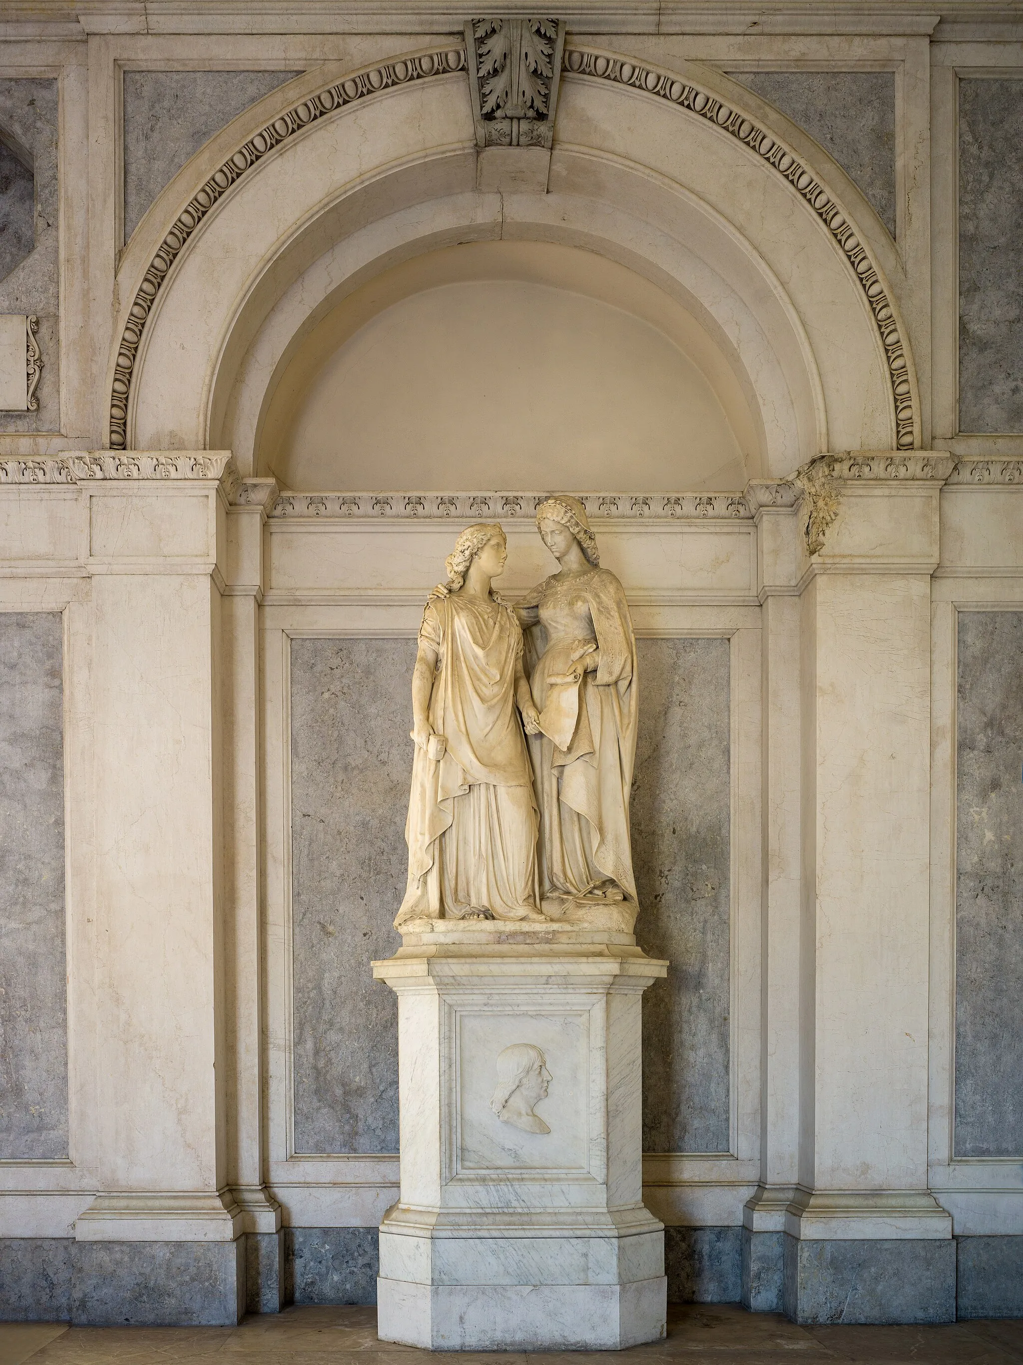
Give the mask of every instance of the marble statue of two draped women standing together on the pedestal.
<svg viewBox="0 0 1023 1365">
<path fill-rule="evenodd" d="M 412 680 L 408 887 L 394 920 L 561 921 L 630 932 L 636 639 L 587 512 L 536 509 L 558 572 L 514 606 L 505 532 L 471 526 L 430 594 Z"/>
</svg>

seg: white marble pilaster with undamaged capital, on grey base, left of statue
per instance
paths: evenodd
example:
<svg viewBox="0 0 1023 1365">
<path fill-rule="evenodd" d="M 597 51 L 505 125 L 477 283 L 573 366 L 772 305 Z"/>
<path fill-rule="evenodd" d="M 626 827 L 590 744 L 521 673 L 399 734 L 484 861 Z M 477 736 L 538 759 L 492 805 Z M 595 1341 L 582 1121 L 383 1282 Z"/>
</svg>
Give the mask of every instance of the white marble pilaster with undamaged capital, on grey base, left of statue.
<svg viewBox="0 0 1023 1365">
<path fill-rule="evenodd" d="M 91 1044 L 75 1163 L 95 1193 L 74 1226 L 71 1317 L 233 1323 L 220 691 L 237 474 L 226 452 L 3 474 L 64 509 L 59 553 L 90 583 L 93 895 L 72 971 Z"/>
</svg>

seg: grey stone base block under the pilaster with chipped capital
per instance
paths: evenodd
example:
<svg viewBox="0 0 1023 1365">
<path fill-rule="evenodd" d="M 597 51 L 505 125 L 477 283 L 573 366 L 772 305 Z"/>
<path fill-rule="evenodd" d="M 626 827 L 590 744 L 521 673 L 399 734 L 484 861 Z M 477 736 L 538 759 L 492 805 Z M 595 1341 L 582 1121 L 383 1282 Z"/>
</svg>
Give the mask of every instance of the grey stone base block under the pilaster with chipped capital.
<svg viewBox="0 0 1023 1365">
<path fill-rule="evenodd" d="M 784 1235 L 784 1312 L 795 1323 L 952 1323 L 947 1241 L 801 1242 Z"/>
</svg>

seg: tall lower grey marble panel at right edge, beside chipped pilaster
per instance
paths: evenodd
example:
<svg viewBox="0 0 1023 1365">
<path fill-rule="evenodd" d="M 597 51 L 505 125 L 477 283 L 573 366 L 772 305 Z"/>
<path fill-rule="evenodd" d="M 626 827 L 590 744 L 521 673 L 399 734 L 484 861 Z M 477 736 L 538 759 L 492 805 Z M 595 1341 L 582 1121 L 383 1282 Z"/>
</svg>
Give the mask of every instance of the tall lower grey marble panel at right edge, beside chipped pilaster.
<svg viewBox="0 0 1023 1365">
<path fill-rule="evenodd" d="M 1023 1159 L 1023 612 L 958 654 L 955 1153 Z"/>
</svg>

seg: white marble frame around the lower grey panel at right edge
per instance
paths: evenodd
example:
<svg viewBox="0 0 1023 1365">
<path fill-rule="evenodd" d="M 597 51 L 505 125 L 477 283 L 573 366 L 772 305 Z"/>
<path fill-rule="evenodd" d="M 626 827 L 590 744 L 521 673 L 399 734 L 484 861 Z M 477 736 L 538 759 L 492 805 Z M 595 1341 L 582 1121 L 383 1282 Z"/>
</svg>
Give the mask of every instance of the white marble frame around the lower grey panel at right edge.
<svg viewBox="0 0 1023 1365">
<path fill-rule="evenodd" d="M 953 1155 L 956 999 L 956 695 L 960 612 L 1023 610 L 1023 573 L 968 572 L 932 587 L 929 1185 L 953 1234 L 1023 1231 L 1023 1156 Z"/>
</svg>

